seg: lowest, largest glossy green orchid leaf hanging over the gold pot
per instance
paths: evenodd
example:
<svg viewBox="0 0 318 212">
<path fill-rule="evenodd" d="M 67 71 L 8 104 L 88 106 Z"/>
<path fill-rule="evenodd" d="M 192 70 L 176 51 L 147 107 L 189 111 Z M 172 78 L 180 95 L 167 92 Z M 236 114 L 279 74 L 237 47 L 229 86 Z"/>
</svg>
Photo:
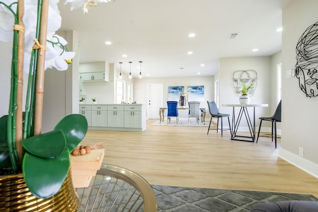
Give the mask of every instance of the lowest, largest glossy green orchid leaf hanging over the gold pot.
<svg viewBox="0 0 318 212">
<path fill-rule="evenodd" d="M 65 149 L 57 158 L 42 158 L 29 153 L 23 159 L 24 180 L 37 198 L 47 199 L 62 187 L 70 169 L 70 152 Z"/>
</svg>

